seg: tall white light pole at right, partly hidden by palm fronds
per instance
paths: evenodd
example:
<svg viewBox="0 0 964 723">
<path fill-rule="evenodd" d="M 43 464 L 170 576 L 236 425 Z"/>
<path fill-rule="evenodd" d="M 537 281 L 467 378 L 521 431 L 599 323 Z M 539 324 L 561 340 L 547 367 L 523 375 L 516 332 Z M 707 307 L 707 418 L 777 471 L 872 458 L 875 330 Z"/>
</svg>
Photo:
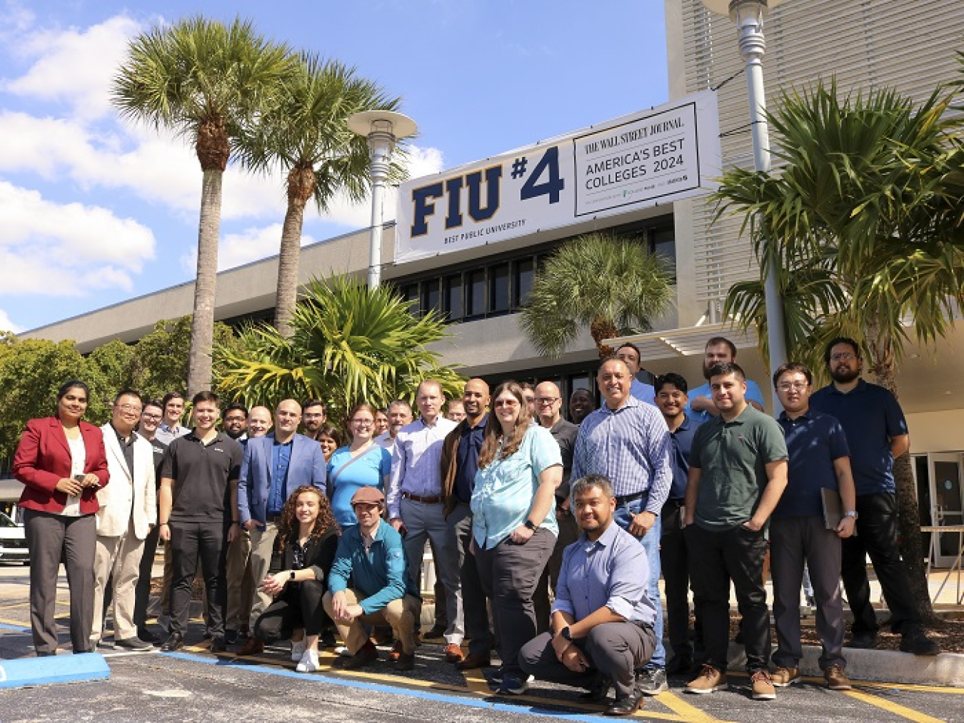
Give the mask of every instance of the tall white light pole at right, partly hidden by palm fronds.
<svg viewBox="0 0 964 723">
<path fill-rule="evenodd" d="M 783 0 L 703 0 L 710 13 L 729 14 L 739 34 L 739 54 L 746 64 L 746 87 L 750 95 L 750 126 L 753 132 L 753 160 L 757 171 L 770 171 L 770 134 L 766 122 L 766 94 L 763 92 L 763 17 Z M 764 242 L 765 243 L 765 242 Z M 777 262 L 770 255 L 763 291 L 766 298 L 766 338 L 770 349 L 770 373 L 787 361 L 787 333 L 783 298 L 777 286 Z M 773 396 L 774 409 L 780 403 Z"/>
</svg>

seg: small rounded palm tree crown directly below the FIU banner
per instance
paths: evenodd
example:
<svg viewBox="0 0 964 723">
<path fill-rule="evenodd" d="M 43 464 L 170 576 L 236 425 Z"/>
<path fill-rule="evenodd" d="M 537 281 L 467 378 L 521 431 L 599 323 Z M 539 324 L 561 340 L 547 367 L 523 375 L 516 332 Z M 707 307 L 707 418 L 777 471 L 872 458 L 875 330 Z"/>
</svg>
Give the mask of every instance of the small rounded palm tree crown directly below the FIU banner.
<svg viewBox="0 0 964 723">
<path fill-rule="evenodd" d="M 532 282 L 522 332 L 539 351 L 558 357 L 588 325 L 600 358 L 603 339 L 651 328 L 673 300 L 663 260 L 630 238 L 588 233 L 552 254 Z"/>
</svg>

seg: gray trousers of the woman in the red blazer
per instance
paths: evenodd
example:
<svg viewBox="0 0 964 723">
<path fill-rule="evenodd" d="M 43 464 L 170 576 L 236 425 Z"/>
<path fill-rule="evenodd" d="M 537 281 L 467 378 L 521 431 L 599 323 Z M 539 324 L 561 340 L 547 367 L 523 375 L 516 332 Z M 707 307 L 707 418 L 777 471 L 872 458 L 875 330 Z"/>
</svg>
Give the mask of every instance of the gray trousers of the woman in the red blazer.
<svg viewBox="0 0 964 723">
<path fill-rule="evenodd" d="M 70 588 L 70 645 L 74 653 L 87 653 L 94 625 L 94 515 L 65 517 L 24 510 L 23 526 L 30 549 L 30 627 L 37 655 L 57 653 L 57 575 L 62 556 Z"/>
</svg>

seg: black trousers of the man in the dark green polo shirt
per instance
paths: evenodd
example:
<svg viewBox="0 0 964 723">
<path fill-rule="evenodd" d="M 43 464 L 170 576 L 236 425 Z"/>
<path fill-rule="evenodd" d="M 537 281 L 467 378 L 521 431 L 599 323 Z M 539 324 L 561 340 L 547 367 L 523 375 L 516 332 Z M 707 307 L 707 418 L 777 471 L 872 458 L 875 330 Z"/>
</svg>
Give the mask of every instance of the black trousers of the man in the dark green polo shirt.
<svg viewBox="0 0 964 723">
<path fill-rule="evenodd" d="M 702 624 L 707 663 L 727 669 L 730 644 L 730 581 L 736 590 L 736 604 L 743 616 L 740 629 L 746 648 L 746 669 L 765 668 L 770 659 L 770 618 L 763 588 L 763 530 L 754 532 L 737 525 L 712 532 L 698 524 L 685 528 L 689 551 L 689 578 L 699 598 L 696 614 Z"/>
</svg>

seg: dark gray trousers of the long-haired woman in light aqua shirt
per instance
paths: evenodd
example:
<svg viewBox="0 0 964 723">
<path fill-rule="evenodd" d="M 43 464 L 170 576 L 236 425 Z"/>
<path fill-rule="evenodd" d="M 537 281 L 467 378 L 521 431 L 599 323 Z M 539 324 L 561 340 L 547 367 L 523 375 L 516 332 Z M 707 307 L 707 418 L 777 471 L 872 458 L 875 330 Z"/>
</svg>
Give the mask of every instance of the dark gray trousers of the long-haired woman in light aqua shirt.
<svg viewBox="0 0 964 723">
<path fill-rule="evenodd" d="M 482 587 L 492 599 L 492 618 L 502 670 L 519 675 L 519 650 L 536 636 L 532 603 L 536 584 L 555 547 L 555 535 L 539 527 L 524 545 L 506 537 L 495 548 L 475 548 Z"/>
</svg>

